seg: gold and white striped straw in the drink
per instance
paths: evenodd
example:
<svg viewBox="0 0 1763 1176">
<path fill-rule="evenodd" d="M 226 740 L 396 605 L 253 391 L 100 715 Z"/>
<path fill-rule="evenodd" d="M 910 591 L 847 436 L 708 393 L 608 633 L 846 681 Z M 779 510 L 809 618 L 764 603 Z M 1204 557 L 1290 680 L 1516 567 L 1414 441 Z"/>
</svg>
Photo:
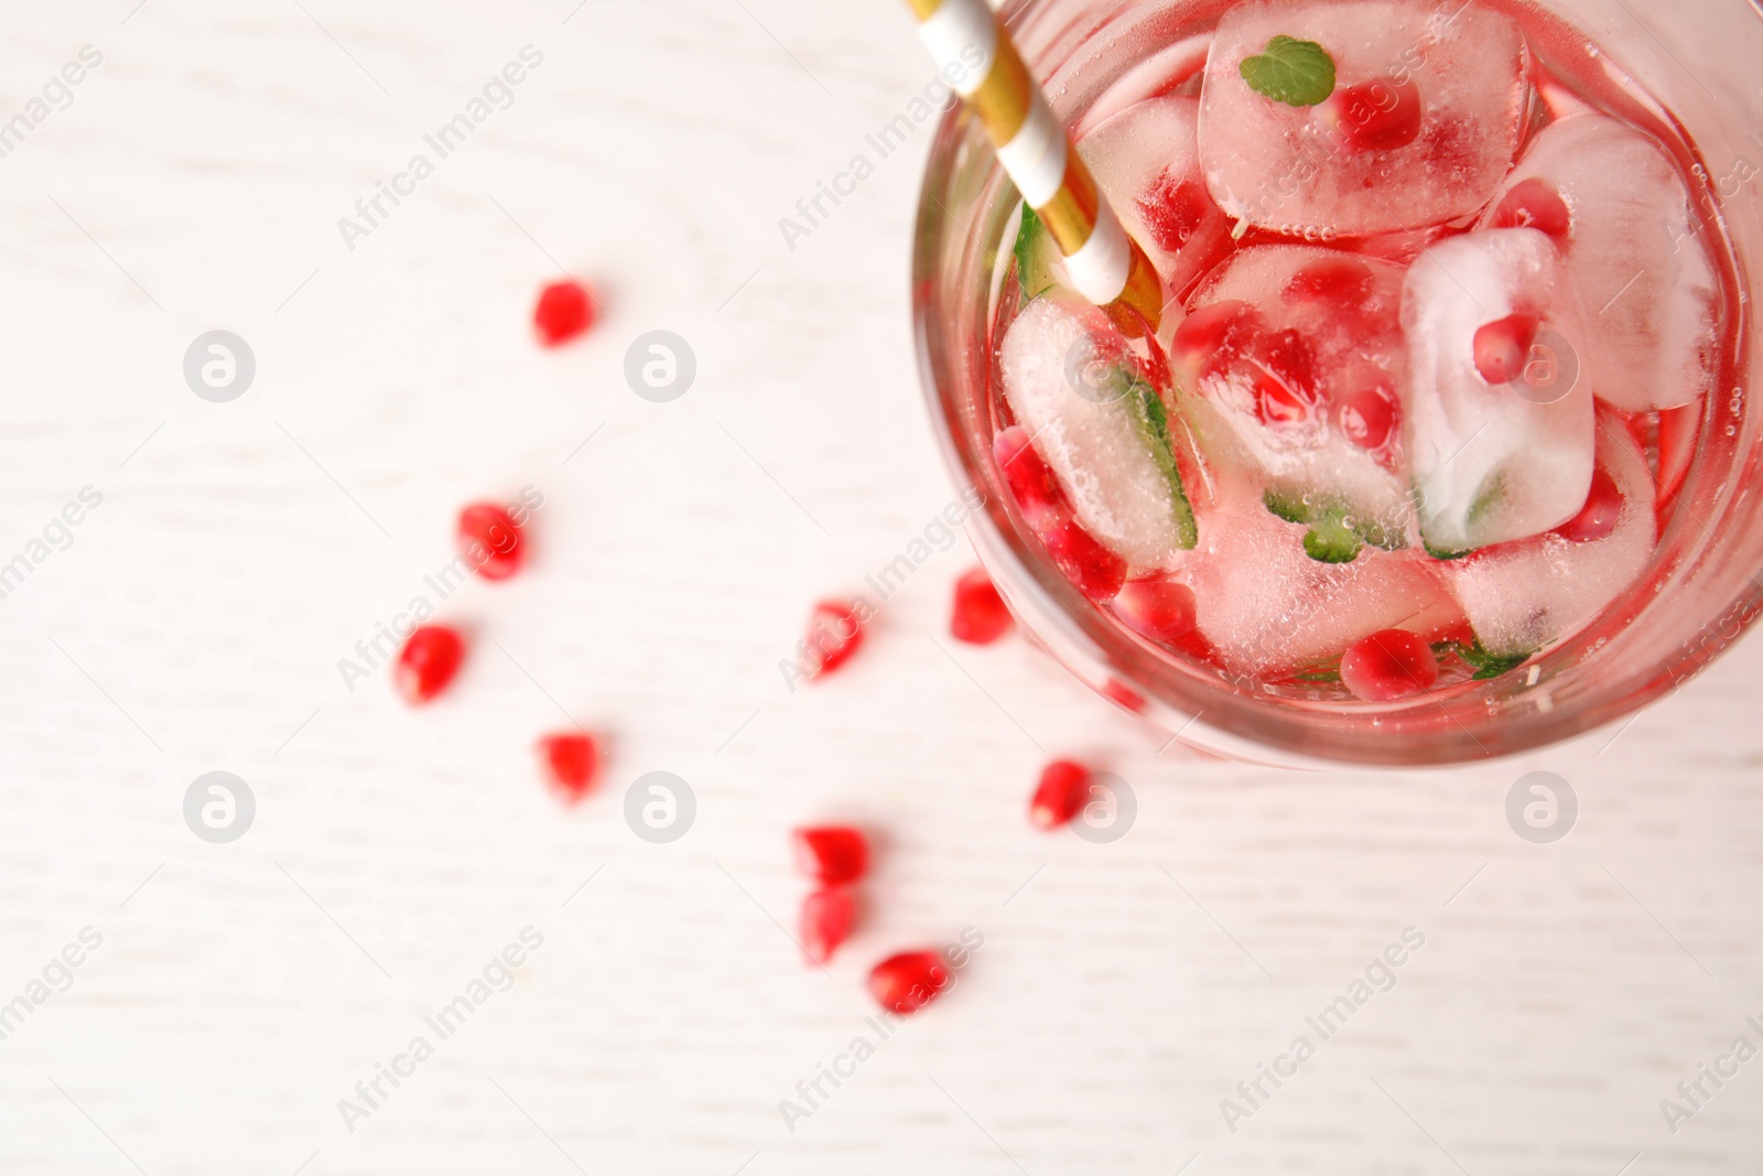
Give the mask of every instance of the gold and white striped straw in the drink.
<svg viewBox="0 0 1763 1176">
<path fill-rule="evenodd" d="M 1157 330 L 1164 282 L 1097 189 L 1003 23 L 984 0 L 906 4 L 943 78 L 978 115 L 998 162 L 1047 226 L 1077 293 L 1098 307 L 1125 303 Z M 975 49 L 978 65 L 970 60 Z"/>
</svg>

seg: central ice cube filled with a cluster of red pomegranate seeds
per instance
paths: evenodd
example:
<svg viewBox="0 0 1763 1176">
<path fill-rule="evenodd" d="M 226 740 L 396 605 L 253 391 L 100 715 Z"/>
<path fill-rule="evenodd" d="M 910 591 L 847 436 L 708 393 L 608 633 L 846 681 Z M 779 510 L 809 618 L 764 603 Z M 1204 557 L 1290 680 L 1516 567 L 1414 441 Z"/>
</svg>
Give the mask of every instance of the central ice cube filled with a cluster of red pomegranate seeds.
<svg viewBox="0 0 1763 1176">
<path fill-rule="evenodd" d="M 1396 420 L 1402 277 L 1377 257 L 1248 247 L 1206 279 L 1171 347 L 1209 462 L 1313 513 L 1345 510 L 1382 547 L 1402 547 L 1412 517 Z"/>
</svg>

